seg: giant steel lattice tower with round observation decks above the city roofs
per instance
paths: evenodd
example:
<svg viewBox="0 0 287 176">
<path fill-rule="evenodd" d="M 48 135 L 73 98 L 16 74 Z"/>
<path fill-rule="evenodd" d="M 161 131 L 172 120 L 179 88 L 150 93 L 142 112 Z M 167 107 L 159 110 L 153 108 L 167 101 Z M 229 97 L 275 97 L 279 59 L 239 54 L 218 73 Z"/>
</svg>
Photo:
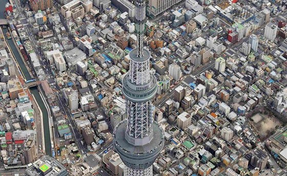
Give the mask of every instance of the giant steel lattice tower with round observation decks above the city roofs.
<svg viewBox="0 0 287 176">
<path fill-rule="evenodd" d="M 163 130 L 153 121 L 156 78 L 150 72 L 151 53 L 144 48 L 146 0 L 136 0 L 137 48 L 130 52 L 130 70 L 122 80 L 127 120 L 114 129 L 114 146 L 127 166 L 125 176 L 152 175 L 152 164 L 163 148 Z"/>
</svg>

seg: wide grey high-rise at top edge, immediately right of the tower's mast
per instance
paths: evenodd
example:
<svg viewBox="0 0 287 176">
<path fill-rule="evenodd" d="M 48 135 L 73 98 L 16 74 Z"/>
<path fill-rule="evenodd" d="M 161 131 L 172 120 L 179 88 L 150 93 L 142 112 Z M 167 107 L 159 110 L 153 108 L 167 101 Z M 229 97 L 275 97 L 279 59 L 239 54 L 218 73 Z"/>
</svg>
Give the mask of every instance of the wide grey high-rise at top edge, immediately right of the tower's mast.
<svg viewBox="0 0 287 176">
<path fill-rule="evenodd" d="M 149 15 L 156 17 L 160 13 L 171 8 L 173 5 L 181 2 L 182 0 L 149 0 L 147 12 Z"/>
</svg>

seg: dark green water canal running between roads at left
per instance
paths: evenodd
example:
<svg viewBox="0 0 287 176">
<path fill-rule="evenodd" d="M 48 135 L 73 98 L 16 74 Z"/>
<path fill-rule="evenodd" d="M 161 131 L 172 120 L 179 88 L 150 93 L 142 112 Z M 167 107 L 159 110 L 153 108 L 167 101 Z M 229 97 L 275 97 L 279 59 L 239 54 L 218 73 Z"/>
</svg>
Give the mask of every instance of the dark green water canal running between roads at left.
<svg viewBox="0 0 287 176">
<path fill-rule="evenodd" d="M 5 4 L 8 2 L 8 0 L 1 0 L 2 3 L 2 7 L 0 7 L 0 18 L 5 18 Z M 3 33 L 5 35 L 5 33 L 8 31 L 8 29 L 2 29 Z M 5 35 L 6 37 L 6 35 Z M 20 53 L 18 52 L 16 46 L 14 45 L 12 39 L 11 40 L 7 40 L 8 41 L 8 45 L 10 46 L 11 51 L 13 52 L 16 61 L 19 65 L 19 67 L 21 68 L 22 73 L 24 74 L 25 79 L 31 80 L 32 77 L 30 75 L 30 73 L 28 72 L 21 56 Z M 33 87 L 30 88 L 31 93 L 34 95 L 35 100 L 37 102 L 37 104 L 39 105 L 40 110 L 42 111 L 43 114 L 43 126 L 44 126 L 44 136 L 42 136 L 42 138 L 44 138 L 45 140 L 45 151 L 47 155 L 52 156 L 52 148 L 51 148 L 51 138 L 50 138 L 50 126 L 49 124 L 49 116 L 48 116 L 48 111 L 44 105 L 44 102 L 41 99 L 40 93 L 37 89 L 37 87 Z M 41 134 L 40 134 L 41 135 Z"/>
</svg>

